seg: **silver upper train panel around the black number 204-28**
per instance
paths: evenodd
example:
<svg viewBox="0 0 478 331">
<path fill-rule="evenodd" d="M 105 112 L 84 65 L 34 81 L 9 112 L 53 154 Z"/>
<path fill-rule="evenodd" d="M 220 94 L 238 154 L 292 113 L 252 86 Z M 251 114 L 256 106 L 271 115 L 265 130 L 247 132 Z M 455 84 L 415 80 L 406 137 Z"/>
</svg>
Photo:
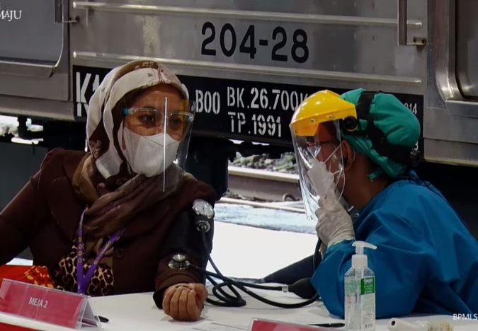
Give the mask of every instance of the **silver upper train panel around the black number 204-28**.
<svg viewBox="0 0 478 331">
<path fill-rule="evenodd" d="M 425 91 L 426 54 L 416 47 L 397 45 L 395 0 L 303 0 L 293 11 L 290 0 L 181 1 L 181 7 L 176 2 L 165 0 L 158 6 L 152 0 L 142 5 L 74 1 L 74 13 L 82 23 L 72 27 L 72 61 L 110 68 L 137 57 L 151 57 L 188 76 L 331 88 L 364 86 L 397 93 Z M 409 6 L 413 13 L 409 34 L 426 37 L 426 1 L 410 1 Z M 256 37 L 254 58 L 239 51 L 251 25 Z M 212 30 L 215 37 L 206 46 L 204 40 Z M 232 33 L 236 47 L 228 52 Z M 283 33 L 287 42 L 277 54 L 287 59 L 274 59 L 273 47 Z M 292 55 L 294 33 L 307 35 L 307 60 L 301 59 L 303 51 L 297 51 L 295 59 Z M 302 37 L 297 40 L 300 45 Z M 202 48 L 215 50 L 215 55 L 201 52 Z M 374 49 L 380 52 L 370 52 Z"/>
</svg>

